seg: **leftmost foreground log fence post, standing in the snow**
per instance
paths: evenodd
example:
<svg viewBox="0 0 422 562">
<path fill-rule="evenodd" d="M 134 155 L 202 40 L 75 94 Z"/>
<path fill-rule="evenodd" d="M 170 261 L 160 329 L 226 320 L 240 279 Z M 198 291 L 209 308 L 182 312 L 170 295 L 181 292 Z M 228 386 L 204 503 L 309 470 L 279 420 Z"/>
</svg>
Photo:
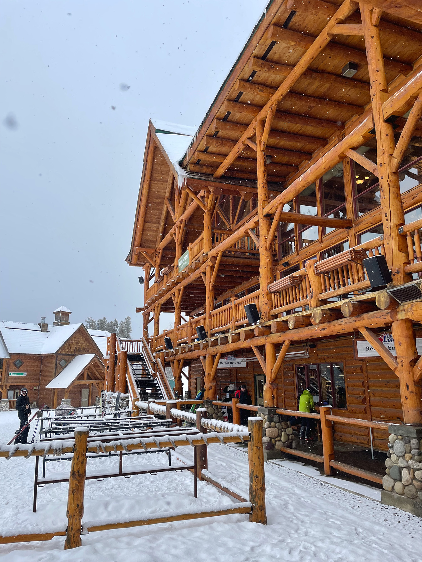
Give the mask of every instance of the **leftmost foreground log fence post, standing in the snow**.
<svg viewBox="0 0 422 562">
<path fill-rule="evenodd" d="M 80 531 L 82 531 L 83 493 L 87 469 L 87 442 L 89 430 L 86 427 L 75 429 L 75 445 L 70 468 L 68 493 L 68 528 L 66 529 L 65 549 L 75 549 L 82 546 Z"/>
</svg>

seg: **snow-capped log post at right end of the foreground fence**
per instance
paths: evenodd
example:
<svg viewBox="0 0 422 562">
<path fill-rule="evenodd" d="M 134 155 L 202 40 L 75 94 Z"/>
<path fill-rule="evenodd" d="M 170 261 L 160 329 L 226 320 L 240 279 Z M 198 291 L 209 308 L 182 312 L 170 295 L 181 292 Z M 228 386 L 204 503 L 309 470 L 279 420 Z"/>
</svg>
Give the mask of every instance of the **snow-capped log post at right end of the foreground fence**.
<svg viewBox="0 0 422 562">
<path fill-rule="evenodd" d="M 248 441 L 249 460 L 249 501 L 252 504 L 252 513 L 249 521 L 252 523 L 267 524 L 265 511 L 265 472 L 264 449 L 262 446 L 262 418 L 249 418 Z"/>
</svg>

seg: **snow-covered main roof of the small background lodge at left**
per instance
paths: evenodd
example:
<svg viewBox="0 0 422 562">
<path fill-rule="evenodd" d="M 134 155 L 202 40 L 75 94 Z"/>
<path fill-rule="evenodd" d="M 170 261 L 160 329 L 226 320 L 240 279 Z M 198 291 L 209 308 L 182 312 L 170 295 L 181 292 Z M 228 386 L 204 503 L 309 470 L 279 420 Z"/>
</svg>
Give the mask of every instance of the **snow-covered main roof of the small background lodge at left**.
<svg viewBox="0 0 422 562">
<path fill-rule="evenodd" d="M 82 324 L 48 326 L 41 332 L 38 324 L 0 321 L 0 332 L 8 353 L 30 353 L 42 355 L 55 353 Z"/>
</svg>

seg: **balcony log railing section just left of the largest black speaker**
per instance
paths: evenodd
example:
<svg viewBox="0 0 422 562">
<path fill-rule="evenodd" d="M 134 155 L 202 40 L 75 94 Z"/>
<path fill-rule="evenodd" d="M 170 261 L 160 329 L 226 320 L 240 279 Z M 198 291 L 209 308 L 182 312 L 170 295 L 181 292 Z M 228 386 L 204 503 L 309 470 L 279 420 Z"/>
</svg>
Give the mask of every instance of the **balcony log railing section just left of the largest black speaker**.
<svg viewBox="0 0 422 562">
<path fill-rule="evenodd" d="M 369 288 L 371 283 L 363 270 L 362 260 L 380 253 L 384 255 L 382 236 L 317 262 L 315 273 L 320 275 L 322 284 L 320 299 L 326 300 Z"/>
</svg>

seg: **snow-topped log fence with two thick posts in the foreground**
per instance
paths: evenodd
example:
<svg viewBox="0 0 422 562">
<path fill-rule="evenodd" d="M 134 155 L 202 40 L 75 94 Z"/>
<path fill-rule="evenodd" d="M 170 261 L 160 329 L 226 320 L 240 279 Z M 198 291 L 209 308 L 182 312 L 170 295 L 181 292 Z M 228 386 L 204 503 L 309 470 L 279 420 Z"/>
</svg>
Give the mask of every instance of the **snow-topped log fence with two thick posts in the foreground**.
<svg viewBox="0 0 422 562">
<path fill-rule="evenodd" d="M 159 406 L 146 404 L 140 402 L 140 406 L 147 406 L 149 409 L 166 410 L 166 406 Z M 174 409 L 171 409 L 174 413 Z M 200 410 L 197 415 L 194 415 L 196 425 L 201 427 L 203 422 L 204 410 Z M 216 422 L 216 420 L 208 420 L 209 422 Z M 264 476 L 264 461 L 262 453 L 262 419 L 251 418 L 249 419 L 249 429 L 238 428 L 232 424 L 227 433 L 200 433 L 199 430 L 191 429 L 191 434 L 184 434 L 181 430 L 177 430 L 173 436 L 168 430 L 167 434 L 154 433 L 145 438 L 121 438 L 107 439 L 106 434 L 98 439 L 97 436 L 89 439 L 89 429 L 79 427 L 75 429 L 74 439 L 62 439 L 61 441 L 47 441 L 38 442 L 25 447 L 24 445 L 18 446 L 0 446 L 0 457 L 29 457 L 35 456 L 37 460 L 39 456 L 46 456 L 48 454 L 61 455 L 63 453 L 73 453 L 71 460 L 71 469 L 69 477 L 69 493 L 68 493 L 68 506 L 66 515 L 68 517 L 68 527 L 66 529 L 59 529 L 53 533 L 33 533 L 21 534 L 15 536 L 0 536 L 0 544 L 12 542 L 26 542 L 26 541 L 47 541 L 55 536 L 65 536 L 64 549 L 73 549 L 82 545 L 81 534 L 86 534 L 96 531 L 106 531 L 108 529 L 119 529 L 136 527 L 140 525 L 151 525 L 158 523 L 167 523 L 172 521 L 190 520 L 206 517 L 214 517 L 218 515 L 231 515 L 235 513 L 249 514 L 251 522 L 266 524 L 266 510 L 265 510 L 265 476 Z M 176 429 L 176 428 L 175 428 Z M 241 429 L 241 431 L 240 431 Z M 192 433 L 192 431 L 194 433 Z M 186 430 L 189 433 L 189 430 Z M 230 490 L 230 486 L 226 486 L 224 482 L 219 481 L 218 478 L 213 477 L 209 473 L 206 464 L 206 447 L 211 443 L 236 443 L 248 442 L 248 456 L 250 466 L 250 479 L 249 479 L 249 501 L 246 500 L 241 494 L 241 504 L 226 509 L 213 509 L 209 511 L 188 512 L 179 514 L 170 514 L 160 518 L 145 518 L 129 522 L 115 522 L 106 523 L 101 522 L 86 522 L 82 524 L 84 513 L 84 487 L 86 481 L 86 465 L 87 453 L 98 454 L 101 452 L 131 452 L 136 450 L 155 450 L 161 448 L 179 447 L 179 446 L 192 446 L 194 447 L 194 466 L 186 466 L 186 469 L 194 471 L 194 486 L 196 497 L 196 478 L 199 476 L 205 481 L 215 484 L 219 489 L 230 493 L 233 497 L 239 496 L 237 491 Z M 198 461 L 201 459 L 200 463 Z M 197 469 L 199 470 L 199 474 Z M 174 467 L 176 470 L 176 467 Z M 168 470 L 168 469 L 167 469 Z M 156 473 L 158 470 L 151 469 L 149 471 L 142 471 L 143 473 Z M 203 474 L 204 473 L 204 474 Z"/>
</svg>

